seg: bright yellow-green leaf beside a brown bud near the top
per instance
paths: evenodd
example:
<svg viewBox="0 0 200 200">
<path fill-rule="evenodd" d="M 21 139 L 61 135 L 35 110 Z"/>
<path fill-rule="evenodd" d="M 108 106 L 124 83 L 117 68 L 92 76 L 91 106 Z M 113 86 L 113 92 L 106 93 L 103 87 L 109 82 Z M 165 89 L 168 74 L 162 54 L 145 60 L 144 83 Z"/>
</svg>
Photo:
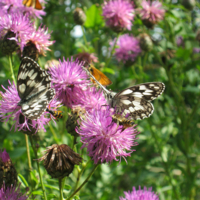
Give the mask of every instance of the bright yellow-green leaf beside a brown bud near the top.
<svg viewBox="0 0 200 200">
<path fill-rule="evenodd" d="M 94 28 L 95 26 L 103 26 L 104 21 L 101 16 L 102 10 L 101 8 L 97 8 L 96 5 L 92 5 L 87 11 L 86 11 L 86 22 L 84 24 L 87 28 Z"/>
</svg>

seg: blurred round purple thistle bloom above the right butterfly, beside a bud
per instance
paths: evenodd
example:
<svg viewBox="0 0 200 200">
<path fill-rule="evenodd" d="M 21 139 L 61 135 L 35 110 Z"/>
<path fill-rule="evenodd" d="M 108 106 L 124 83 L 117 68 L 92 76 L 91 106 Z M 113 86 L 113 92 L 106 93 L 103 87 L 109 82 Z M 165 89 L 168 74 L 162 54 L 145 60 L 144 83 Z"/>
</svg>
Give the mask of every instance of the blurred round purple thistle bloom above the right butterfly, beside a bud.
<svg viewBox="0 0 200 200">
<path fill-rule="evenodd" d="M 119 37 L 117 46 L 118 48 L 115 49 L 115 57 L 118 61 L 123 61 L 124 63 L 126 61 L 135 61 L 141 52 L 139 40 L 128 34 Z"/>
</svg>

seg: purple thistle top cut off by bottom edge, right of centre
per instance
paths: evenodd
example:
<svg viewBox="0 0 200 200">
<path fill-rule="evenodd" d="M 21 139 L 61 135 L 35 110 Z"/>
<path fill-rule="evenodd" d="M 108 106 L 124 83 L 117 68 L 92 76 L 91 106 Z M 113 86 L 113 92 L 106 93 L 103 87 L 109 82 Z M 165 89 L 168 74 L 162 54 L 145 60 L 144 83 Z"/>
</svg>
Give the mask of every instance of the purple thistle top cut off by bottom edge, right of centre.
<svg viewBox="0 0 200 200">
<path fill-rule="evenodd" d="M 133 187 L 131 192 L 124 192 L 124 194 L 125 198 L 119 197 L 120 200 L 159 200 L 158 195 L 152 192 L 152 188 L 147 189 L 144 187 L 144 189 L 141 189 L 139 186 L 139 190 L 136 190 L 136 188 Z"/>
</svg>

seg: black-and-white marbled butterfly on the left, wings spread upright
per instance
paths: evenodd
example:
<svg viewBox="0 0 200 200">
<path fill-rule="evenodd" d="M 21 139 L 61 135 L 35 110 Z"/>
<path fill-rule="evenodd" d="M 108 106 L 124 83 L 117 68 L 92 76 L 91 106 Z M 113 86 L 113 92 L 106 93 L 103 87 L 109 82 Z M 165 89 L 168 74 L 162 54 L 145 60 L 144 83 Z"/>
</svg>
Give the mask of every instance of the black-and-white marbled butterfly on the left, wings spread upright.
<svg viewBox="0 0 200 200">
<path fill-rule="evenodd" d="M 50 75 L 28 57 L 22 59 L 19 67 L 17 91 L 21 98 L 18 105 L 31 120 L 40 118 L 55 95 Z"/>
</svg>

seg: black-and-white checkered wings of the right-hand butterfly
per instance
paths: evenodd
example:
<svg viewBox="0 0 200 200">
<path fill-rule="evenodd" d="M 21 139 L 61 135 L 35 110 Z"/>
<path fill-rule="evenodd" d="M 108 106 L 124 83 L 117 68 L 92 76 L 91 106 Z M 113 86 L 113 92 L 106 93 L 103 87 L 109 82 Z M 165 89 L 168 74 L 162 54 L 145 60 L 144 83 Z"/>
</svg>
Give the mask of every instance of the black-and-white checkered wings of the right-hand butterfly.
<svg viewBox="0 0 200 200">
<path fill-rule="evenodd" d="M 144 119 L 149 117 L 154 107 L 150 101 L 160 96 L 165 85 L 160 82 L 143 83 L 117 93 L 112 99 L 112 107 L 116 113 L 123 116 L 129 115 L 132 119 Z"/>
</svg>

